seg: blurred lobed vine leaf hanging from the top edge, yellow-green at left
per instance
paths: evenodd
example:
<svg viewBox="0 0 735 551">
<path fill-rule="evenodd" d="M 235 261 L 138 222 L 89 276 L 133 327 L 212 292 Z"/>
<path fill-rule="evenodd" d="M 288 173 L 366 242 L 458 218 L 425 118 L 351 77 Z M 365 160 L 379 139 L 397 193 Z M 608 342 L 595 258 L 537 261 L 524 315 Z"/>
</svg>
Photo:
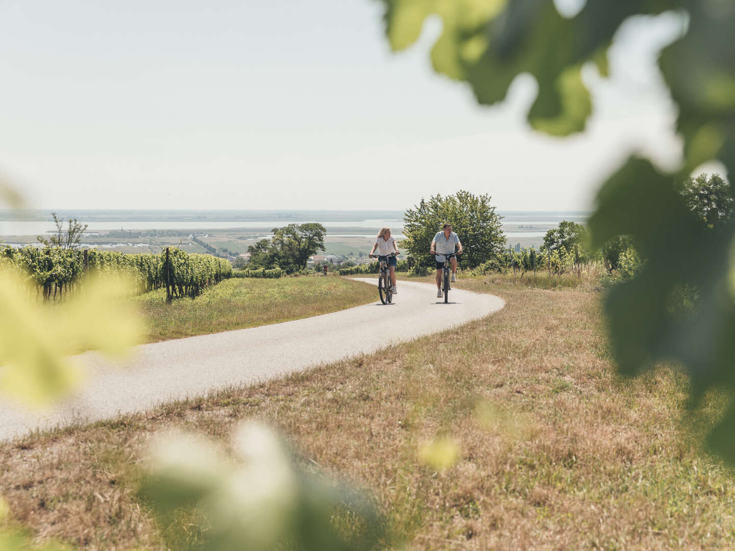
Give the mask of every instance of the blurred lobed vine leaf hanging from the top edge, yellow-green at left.
<svg viewBox="0 0 735 551">
<path fill-rule="evenodd" d="M 574 19 L 552 0 L 382 0 L 394 50 L 415 43 L 429 15 L 444 26 L 431 50 L 436 71 L 465 80 L 481 104 L 506 96 L 520 73 L 531 73 L 539 95 L 528 114 L 534 128 L 555 135 L 584 129 L 592 112 L 581 67 L 593 62 L 607 74 L 606 51 L 617 27 L 636 13 L 659 13 L 676 1 L 589 0 Z"/>
</svg>

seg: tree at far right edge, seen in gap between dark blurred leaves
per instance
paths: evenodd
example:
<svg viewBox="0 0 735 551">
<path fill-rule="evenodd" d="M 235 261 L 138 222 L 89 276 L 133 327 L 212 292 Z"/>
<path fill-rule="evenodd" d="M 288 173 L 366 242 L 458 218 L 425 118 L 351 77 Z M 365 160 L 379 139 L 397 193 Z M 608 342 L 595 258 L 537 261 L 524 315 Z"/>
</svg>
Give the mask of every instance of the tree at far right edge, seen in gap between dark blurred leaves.
<svg viewBox="0 0 735 551">
<path fill-rule="evenodd" d="M 689 176 L 681 189 L 684 201 L 698 220 L 709 228 L 720 228 L 735 218 L 735 199 L 730 184 L 717 173 L 709 179 L 705 173 L 696 178 Z"/>
</svg>

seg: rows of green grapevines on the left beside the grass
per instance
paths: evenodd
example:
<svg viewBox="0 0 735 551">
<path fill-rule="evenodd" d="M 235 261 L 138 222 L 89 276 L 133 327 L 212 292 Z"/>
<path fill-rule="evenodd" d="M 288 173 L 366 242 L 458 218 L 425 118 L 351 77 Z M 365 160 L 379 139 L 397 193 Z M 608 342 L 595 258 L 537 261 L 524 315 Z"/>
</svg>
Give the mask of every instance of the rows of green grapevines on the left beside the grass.
<svg viewBox="0 0 735 551">
<path fill-rule="evenodd" d="M 168 262 L 167 262 L 168 258 Z M 172 248 L 160 254 L 124 254 L 88 251 L 87 266 L 96 277 L 122 276 L 138 292 L 165 287 L 173 297 L 196 297 L 204 287 L 232 275 L 225 259 L 206 254 L 186 253 Z M 0 270 L 24 278 L 44 300 L 62 298 L 76 290 L 85 278 L 85 251 L 60 247 L 0 247 Z M 168 278 L 168 279 L 167 279 Z"/>
</svg>

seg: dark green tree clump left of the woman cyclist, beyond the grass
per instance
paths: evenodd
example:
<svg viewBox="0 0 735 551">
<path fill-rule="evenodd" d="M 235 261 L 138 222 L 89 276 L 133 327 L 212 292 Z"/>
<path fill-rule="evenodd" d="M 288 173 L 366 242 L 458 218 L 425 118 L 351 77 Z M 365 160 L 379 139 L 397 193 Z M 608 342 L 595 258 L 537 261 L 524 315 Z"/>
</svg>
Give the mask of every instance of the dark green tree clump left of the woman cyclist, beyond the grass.
<svg viewBox="0 0 735 551">
<path fill-rule="evenodd" d="M 309 257 L 324 251 L 326 228 L 318 223 L 289 224 L 273 228 L 270 240 L 260 240 L 248 247 L 250 261 L 254 267 L 277 268 L 286 273 L 306 269 Z"/>
</svg>

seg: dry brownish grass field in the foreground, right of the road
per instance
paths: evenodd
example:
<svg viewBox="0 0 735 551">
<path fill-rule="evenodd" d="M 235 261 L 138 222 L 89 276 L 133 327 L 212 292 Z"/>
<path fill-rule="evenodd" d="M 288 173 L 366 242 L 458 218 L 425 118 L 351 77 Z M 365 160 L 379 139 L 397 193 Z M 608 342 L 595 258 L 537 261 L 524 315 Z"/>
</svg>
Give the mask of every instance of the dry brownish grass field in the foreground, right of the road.
<svg viewBox="0 0 735 551">
<path fill-rule="evenodd" d="M 137 499 L 146 442 L 171 427 L 224 440 L 255 417 L 305 463 L 369 489 L 388 549 L 734 547 L 734 473 L 700 442 L 723 398 L 686 413 L 676 370 L 621 380 L 600 292 L 529 283 L 463 279 L 457 287 L 498 294 L 506 308 L 447 334 L 0 444 L 12 522 L 90 549 L 184 549 L 201 536 L 190 516 L 161 528 Z M 453 467 L 420 460 L 437 437 L 458 447 Z"/>
</svg>

